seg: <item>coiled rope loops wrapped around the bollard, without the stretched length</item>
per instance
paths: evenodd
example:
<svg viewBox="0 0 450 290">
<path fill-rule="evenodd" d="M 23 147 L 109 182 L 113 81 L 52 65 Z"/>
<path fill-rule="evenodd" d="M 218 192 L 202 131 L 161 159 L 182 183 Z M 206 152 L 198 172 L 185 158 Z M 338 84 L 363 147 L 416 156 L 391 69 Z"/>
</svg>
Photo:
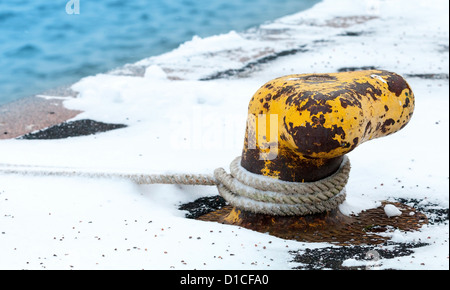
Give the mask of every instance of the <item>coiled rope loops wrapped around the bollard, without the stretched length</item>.
<svg viewBox="0 0 450 290">
<path fill-rule="evenodd" d="M 350 173 L 347 156 L 331 176 L 315 182 L 288 182 L 260 176 L 240 165 L 240 157 L 214 171 L 220 195 L 233 206 L 269 215 L 308 215 L 335 209 L 345 200 Z"/>
</svg>

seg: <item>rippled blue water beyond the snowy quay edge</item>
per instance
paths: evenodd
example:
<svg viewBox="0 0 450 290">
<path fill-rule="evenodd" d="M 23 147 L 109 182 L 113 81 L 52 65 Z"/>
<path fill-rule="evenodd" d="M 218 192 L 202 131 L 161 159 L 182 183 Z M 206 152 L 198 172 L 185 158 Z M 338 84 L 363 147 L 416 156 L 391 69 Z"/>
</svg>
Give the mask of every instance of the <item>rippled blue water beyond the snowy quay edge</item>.
<svg viewBox="0 0 450 290">
<path fill-rule="evenodd" d="M 0 0 L 0 105 L 320 1 L 78 0 L 66 10 L 68 2 Z"/>
</svg>

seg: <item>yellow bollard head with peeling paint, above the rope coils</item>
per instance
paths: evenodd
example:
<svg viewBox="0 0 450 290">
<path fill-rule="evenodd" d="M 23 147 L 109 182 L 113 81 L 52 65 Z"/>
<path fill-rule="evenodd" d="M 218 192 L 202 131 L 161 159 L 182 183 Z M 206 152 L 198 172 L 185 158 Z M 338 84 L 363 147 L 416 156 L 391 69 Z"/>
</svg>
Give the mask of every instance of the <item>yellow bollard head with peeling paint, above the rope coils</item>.
<svg viewBox="0 0 450 290">
<path fill-rule="evenodd" d="M 413 110 L 409 85 L 387 71 L 280 77 L 250 101 L 241 165 L 280 180 L 319 180 L 359 144 L 402 129 Z"/>
</svg>

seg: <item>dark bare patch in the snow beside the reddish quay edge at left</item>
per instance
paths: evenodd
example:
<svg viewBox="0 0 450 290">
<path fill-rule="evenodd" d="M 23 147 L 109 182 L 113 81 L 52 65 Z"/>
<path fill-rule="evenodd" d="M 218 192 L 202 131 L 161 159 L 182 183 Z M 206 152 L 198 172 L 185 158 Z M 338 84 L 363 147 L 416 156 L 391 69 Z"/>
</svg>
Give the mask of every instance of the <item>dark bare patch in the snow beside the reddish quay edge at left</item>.
<svg viewBox="0 0 450 290">
<path fill-rule="evenodd" d="M 110 130 L 127 127 L 124 124 L 107 124 L 93 120 L 77 120 L 64 122 L 49 128 L 32 132 L 17 139 L 64 139 L 69 137 L 87 136 Z"/>
</svg>

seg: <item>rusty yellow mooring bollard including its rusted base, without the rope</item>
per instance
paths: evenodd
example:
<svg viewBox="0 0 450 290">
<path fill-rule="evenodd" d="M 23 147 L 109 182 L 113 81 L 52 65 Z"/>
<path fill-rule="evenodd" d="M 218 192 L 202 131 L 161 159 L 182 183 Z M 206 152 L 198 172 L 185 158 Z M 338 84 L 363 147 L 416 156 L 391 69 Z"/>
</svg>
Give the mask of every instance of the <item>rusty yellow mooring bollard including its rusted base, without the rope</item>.
<svg viewBox="0 0 450 290">
<path fill-rule="evenodd" d="M 264 84 L 250 100 L 240 165 L 250 173 L 281 182 L 320 181 L 333 175 L 344 155 L 361 143 L 406 126 L 413 111 L 411 88 L 392 72 L 280 77 Z M 384 219 L 377 210 L 359 217 L 344 216 L 338 208 L 279 216 L 229 206 L 200 219 L 302 241 L 378 243 L 383 238 L 368 236 L 364 228 L 392 220 Z M 397 228 L 417 229 L 426 217 L 417 213 L 397 222 Z"/>
</svg>

